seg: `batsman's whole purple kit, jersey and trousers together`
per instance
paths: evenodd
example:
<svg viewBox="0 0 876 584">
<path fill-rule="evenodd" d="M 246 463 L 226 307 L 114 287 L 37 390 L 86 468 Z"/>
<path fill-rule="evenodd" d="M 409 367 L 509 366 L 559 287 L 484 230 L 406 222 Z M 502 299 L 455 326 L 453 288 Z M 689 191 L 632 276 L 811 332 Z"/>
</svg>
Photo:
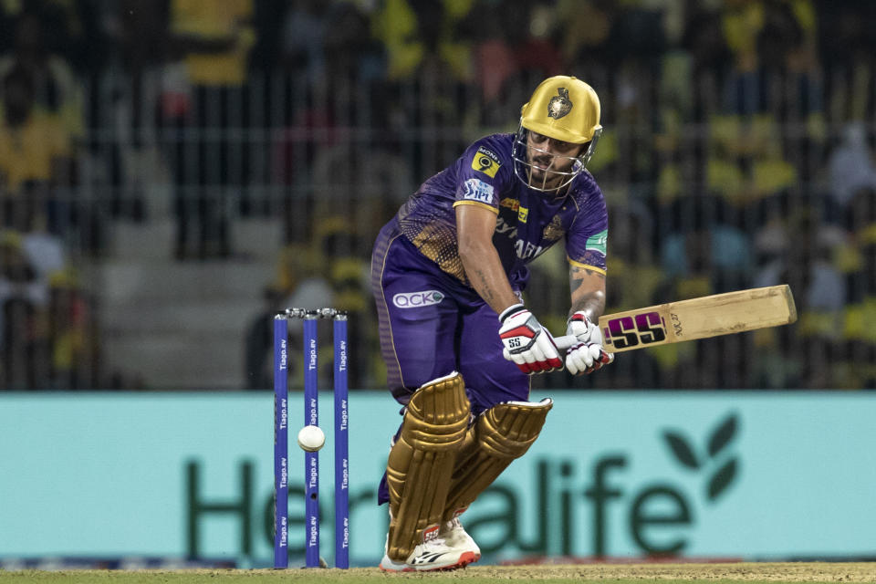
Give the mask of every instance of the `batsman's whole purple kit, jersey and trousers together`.
<svg viewBox="0 0 876 584">
<path fill-rule="evenodd" d="M 564 236 L 570 264 L 605 273 L 608 214 L 592 175 L 581 172 L 559 198 L 531 190 L 515 176 L 514 139 L 494 134 L 475 141 L 422 183 L 377 237 L 371 287 L 387 381 L 402 405 L 454 370 L 463 375 L 474 415 L 529 397 L 529 376 L 502 356 L 495 311 L 465 276 L 456 205 L 495 212 L 493 244 L 518 292 L 527 286 L 527 264 Z M 378 499 L 389 499 L 385 480 Z"/>
</svg>

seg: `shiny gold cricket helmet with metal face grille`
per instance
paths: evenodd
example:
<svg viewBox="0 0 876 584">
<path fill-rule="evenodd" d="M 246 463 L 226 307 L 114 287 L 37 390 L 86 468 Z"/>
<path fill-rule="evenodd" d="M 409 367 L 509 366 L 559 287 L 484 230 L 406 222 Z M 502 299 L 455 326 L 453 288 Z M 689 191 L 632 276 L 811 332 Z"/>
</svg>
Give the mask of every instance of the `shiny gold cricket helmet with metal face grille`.
<svg viewBox="0 0 876 584">
<path fill-rule="evenodd" d="M 552 159 L 547 169 L 539 167 L 537 173 L 542 174 L 539 181 L 533 176 L 534 167 L 529 160 L 528 131 L 573 144 L 589 142 L 589 146 L 576 157 L 558 156 L 533 148 L 536 155 Z M 520 126 L 513 151 L 517 178 L 537 191 L 558 191 L 587 167 L 601 133 L 600 98 L 593 88 L 579 78 L 565 75 L 545 79 L 520 109 Z M 557 182 L 557 177 L 560 178 L 558 184 L 548 187 L 548 183 Z"/>
</svg>

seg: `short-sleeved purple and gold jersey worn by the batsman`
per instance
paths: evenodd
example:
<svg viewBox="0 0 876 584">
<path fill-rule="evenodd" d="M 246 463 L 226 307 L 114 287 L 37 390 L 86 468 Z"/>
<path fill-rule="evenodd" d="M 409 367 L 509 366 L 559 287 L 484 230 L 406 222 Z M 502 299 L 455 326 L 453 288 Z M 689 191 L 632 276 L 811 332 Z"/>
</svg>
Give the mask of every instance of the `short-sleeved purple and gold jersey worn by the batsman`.
<svg viewBox="0 0 876 584">
<path fill-rule="evenodd" d="M 525 287 L 527 264 L 564 235 L 571 262 L 604 272 L 608 215 L 592 175 L 579 174 L 559 199 L 528 189 L 514 174 L 514 138 L 494 134 L 475 141 L 401 206 L 398 229 L 444 272 L 467 284 L 457 253 L 454 206 L 475 204 L 497 214 L 493 244 L 512 287 Z"/>
</svg>

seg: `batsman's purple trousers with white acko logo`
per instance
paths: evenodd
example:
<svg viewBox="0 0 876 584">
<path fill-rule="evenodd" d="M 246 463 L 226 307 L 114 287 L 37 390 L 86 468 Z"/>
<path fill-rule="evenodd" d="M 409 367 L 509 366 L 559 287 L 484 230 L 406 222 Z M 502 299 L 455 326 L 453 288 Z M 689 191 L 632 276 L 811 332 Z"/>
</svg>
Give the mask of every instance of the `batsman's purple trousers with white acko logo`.
<svg viewBox="0 0 876 584">
<path fill-rule="evenodd" d="M 463 376 L 475 416 L 496 403 L 529 399 L 529 376 L 502 356 L 495 311 L 422 255 L 394 222 L 374 245 L 371 288 L 396 401 L 407 404 L 423 384 L 454 370 Z M 389 500 L 385 476 L 378 500 Z"/>
</svg>

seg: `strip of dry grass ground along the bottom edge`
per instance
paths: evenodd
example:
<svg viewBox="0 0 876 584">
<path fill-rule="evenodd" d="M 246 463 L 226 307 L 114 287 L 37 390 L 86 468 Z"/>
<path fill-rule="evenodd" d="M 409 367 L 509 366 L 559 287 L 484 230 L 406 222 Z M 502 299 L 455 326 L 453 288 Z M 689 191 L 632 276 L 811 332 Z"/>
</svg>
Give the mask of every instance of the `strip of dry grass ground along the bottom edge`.
<svg viewBox="0 0 876 584">
<path fill-rule="evenodd" d="M 453 572 L 383 574 L 378 568 L 253 569 L 253 570 L 66 570 L 0 571 L 0 582 L 11 584 L 373 584 L 404 579 L 456 581 L 464 584 L 507 584 L 508 580 L 538 580 L 538 584 L 568 582 L 616 582 L 641 584 L 662 582 L 876 582 L 876 563 L 739 563 L 739 564 L 587 564 L 494 567 L 478 566 Z"/>
</svg>

